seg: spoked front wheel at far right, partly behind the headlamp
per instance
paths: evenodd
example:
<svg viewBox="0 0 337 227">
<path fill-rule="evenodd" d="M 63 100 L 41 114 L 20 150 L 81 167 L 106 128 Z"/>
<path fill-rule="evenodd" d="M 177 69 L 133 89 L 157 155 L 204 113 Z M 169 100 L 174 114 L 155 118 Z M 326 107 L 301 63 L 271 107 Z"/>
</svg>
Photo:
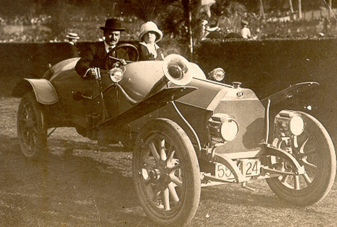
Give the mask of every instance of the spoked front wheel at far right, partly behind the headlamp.
<svg viewBox="0 0 337 227">
<path fill-rule="evenodd" d="M 298 148 L 292 155 L 304 166 L 302 175 L 282 175 L 267 179 L 270 189 L 281 199 L 296 205 L 311 205 L 321 201 L 334 181 L 336 157 L 331 138 L 323 125 L 309 114 L 300 112 L 305 127 L 298 136 Z M 281 165 L 279 165 L 281 166 Z M 288 163 L 282 169 L 291 169 Z"/>
</svg>

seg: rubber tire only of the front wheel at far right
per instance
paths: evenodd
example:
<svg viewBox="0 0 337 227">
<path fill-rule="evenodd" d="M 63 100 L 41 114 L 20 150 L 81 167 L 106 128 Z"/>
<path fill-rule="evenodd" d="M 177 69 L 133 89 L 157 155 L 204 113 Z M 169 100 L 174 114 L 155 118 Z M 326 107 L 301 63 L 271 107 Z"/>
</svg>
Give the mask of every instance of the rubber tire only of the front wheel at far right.
<svg viewBox="0 0 337 227">
<path fill-rule="evenodd" d="M 304 132 L 298 138 L 307 133 L 309 135 L 308 142 L 314 138 L 317 147 L 321 148 L 317 153 L 319 157 L 317 175 L 312 179 L 310 185 L 300 190 L 286 187 L 277 177 L 266 180 L 270 189 L 279 198 L 295 205 L 306 206 L 321 201 L 331 189 L 336 172 L 336 156 L 331 138 L 323 125 L 313 116 L 303 112 L 299 113 L 305 126 Z M 300 145 L 301 143 L 299 143 Z"/>
</svg>

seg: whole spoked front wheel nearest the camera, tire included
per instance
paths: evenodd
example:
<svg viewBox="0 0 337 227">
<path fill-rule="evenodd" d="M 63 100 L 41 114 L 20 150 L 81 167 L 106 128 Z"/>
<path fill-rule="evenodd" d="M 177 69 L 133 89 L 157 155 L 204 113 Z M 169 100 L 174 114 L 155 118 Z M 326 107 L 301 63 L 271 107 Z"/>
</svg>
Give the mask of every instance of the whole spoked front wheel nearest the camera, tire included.
<svg viewBox="0 0 337 227">
<path fill-rule="evenodd" d="M 149 122 L 132 159 L 135 189 L 147 216 L 159 225 L 185 226 L 200 201 L 197 155 L 184 130 L 168 119 Z"/>
</svg>

